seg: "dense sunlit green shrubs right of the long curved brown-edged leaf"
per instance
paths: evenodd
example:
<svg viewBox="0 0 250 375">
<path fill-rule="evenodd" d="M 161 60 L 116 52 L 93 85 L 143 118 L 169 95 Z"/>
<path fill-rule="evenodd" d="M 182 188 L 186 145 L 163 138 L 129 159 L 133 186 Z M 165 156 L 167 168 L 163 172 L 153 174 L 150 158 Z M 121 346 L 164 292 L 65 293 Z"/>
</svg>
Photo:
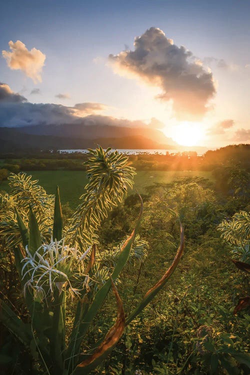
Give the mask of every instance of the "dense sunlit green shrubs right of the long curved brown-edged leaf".
<svg viewBox="0 0 250 375">
<path fill-rule="evenodd" d="M 152 195 L 145 202 L 141 224 L 141 234 L 149 249 L 134 302 L 143 292 L 145 280 L 157 277 L 159 269 L 166 266 L 174 248 L 177 227 L 169 207 L 182 213 L 185 257 L 167 289 L 156 296 L 141 317 L 131 322 L 102 373 L 127 375 L 137 369 L 143 375 L 208 375 L 216 367 L 214 356 L 218 357 L 214 373 L 249 373 L 249 314 L 242 310 L 233 315 L 237 299 L 248 291 L 248 280 L 227 260 L 228 245 L 216 230 L 224 211 L 215 192 L 203 180 L 191 182 L 199 187 L 182 180 L 150 190 Z M 183 192 L 180 197 L 175 192 L 178 186 Z M 167 251 L 163 243 L 168 244 Z M 129 278 L 136 280 L 138 271 L 137 266 Z M 121 281 L 129 285 L 126 278 Z M 202 338 L 197 337 L 197 332 L 203 325 L 212 329 L 212 347 L 200 354 L 196 343 Z"/>
</svg>

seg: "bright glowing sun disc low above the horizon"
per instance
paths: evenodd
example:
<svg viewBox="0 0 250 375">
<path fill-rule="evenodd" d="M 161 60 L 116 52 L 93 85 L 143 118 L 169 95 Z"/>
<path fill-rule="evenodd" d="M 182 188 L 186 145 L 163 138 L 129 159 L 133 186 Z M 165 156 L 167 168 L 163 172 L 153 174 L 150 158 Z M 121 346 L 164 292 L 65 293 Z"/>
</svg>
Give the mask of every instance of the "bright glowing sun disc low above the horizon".
<svg viewBox="0 0 250 375">
<path fill-rule="evenodd" d="M 176 125 L 173 140 L 183 146 L 194 146 L 204 137 L 202 125 L 198 122 L 183 121 Z"/>
</svg>

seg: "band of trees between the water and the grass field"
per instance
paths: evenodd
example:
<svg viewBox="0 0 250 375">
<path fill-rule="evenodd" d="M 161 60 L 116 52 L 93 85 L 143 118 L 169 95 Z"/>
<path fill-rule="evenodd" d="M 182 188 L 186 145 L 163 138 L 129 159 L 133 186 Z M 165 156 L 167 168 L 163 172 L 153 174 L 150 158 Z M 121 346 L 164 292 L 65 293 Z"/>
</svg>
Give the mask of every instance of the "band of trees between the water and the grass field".
<svg viewBox="0 0 250 375">
<path fill-rule="evenodd" d="M 85 170 L 82 163 L 87 158 L 87 154 L 81 152 L 39 152 L 28 158 L 1 156 L 3 155 L 0 155 L 0 168 L 15 173 L 29 170 Z M 194 151 L 166 152 L 165 155 L 133 154 L 129 155 L 129 163 L 136 170 L 215 170 L 219 174 L 219 168 L 239 165 L 240 168 L 250 171 L 250 145 L 229 145 L 214 151 L 209 150 L 202 156 Z M 6 175 L 5 171 L 1 173 Z"/>
</svg>

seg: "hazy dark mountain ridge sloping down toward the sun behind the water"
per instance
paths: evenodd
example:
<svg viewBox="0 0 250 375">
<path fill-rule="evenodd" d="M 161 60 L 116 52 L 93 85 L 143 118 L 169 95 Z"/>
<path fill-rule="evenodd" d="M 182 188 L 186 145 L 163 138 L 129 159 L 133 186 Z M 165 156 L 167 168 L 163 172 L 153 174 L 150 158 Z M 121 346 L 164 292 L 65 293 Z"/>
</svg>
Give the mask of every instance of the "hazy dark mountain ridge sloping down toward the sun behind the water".
<svg viewBox="0 0 250 375">
<path fill-rule="evenodd" d="M 23 149 L 89 148 L 95 147 L 96 144 L 112 148 L 145 149 L 171 149 L 177 146 L 177 143 L 159 130 L 78 124 L 0 127 L 0 143 L 2 152 Z"/>
</svg>

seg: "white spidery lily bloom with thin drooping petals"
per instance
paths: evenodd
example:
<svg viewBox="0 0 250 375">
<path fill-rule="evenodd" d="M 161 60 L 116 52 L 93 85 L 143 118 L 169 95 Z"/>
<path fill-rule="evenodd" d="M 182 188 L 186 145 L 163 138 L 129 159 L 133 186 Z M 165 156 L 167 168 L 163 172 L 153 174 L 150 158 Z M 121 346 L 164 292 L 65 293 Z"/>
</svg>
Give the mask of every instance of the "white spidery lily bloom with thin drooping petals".
<svg viewBox="0 0 250 375">
<path fill-rule="evenodd" d="M 42 248 L 42 254 L 39 250 Z M 84 253 L 75 247 L 65 245 L 65 239 L 53 241 L 40 246 L 33 255 L 25 247 L 27 256 L 22 259 L 24 263 L 21 269 L 22 279 L 28 280 L 24 284 L 33 291 L 34 298 L 42 300 L 48 293 L 53 298 L 55 290 L 68 291 L 71 297 L 80 295 L 80 291 L 88 288 L 89 276 L 83 273 L 85 268 L 83 261 L 91 246 Z"/>
</svg>

